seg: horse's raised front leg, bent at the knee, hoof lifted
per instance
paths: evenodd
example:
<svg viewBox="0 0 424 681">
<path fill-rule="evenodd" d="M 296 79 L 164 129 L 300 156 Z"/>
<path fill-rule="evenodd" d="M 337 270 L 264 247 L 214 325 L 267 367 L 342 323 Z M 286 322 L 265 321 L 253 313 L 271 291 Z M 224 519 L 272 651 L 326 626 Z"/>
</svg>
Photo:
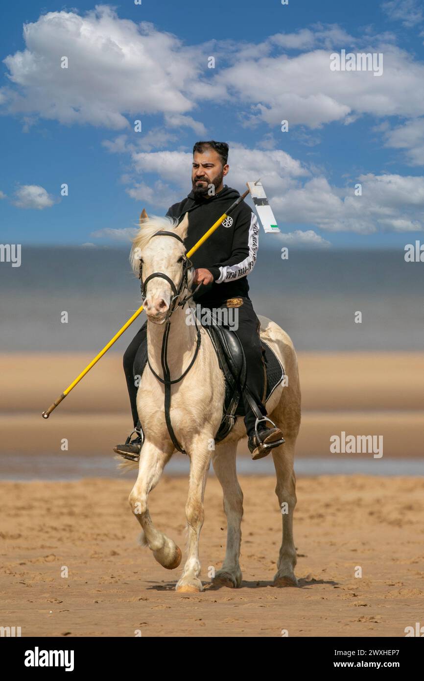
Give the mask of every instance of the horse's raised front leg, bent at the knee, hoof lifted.
<svg viewBox="0 0 424 681">
<path fill-rule="evenodd" d="M 129 495 L 129 505 L 142 526 L 140 544 L 148 545 L 158 563 L 173 570 L 181 563 L 181 551 L 166 535 L 157 530 L 148 510 L 148 494 L 157 486 L 163 467 L 171 458 L 174 447 L 163 452 L 150 442 L 144 442 L 140 456 L 137 480 Z"/>
</svg>

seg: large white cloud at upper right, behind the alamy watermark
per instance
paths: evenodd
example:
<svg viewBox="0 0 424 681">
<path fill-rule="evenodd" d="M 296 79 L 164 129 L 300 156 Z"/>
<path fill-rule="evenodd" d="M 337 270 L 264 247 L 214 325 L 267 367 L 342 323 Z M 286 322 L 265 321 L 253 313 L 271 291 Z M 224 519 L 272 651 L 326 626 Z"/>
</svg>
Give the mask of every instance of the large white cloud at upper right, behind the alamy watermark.
<svg viewBox="0 0 424 681">
<path fill-rule="evenodd" d="M 288 57 L 244 59 L 215 76 L 233 99 L 250 108 L 247 123 L 321 127 L 351 123 L 361 114 L 378 117 L 421 115 L 424 65 L 392 44 L 361 45 L 358 52 L 382 52 L 383 74 L 332 72 L 330 51 L 316 49 Z M 252 104 L 254 102 L 255 104 Z"/>
</svg>

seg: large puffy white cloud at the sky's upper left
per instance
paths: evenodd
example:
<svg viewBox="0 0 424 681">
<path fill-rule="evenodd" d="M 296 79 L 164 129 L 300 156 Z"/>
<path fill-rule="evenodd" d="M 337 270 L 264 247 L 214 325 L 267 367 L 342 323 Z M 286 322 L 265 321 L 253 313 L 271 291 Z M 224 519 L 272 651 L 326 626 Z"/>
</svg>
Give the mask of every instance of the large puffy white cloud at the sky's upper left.
<svg viewBox="0 0 424 681">
<path fill-rule="evenodd" d="M 22 92 L 1 91 L 10 112 L 123 129 L 129 126 L 124 114 L 193 109 L 185 91 L 200 78 L 199 48 L 147 22 L 120 19 L 112 7 L 97 5 L 84 16 L 48 12 L 25 24 L 24 39 L 26 49 L 4 59 Z M 64 56 L 67 69 L 61 68 Z"/>
</svg>

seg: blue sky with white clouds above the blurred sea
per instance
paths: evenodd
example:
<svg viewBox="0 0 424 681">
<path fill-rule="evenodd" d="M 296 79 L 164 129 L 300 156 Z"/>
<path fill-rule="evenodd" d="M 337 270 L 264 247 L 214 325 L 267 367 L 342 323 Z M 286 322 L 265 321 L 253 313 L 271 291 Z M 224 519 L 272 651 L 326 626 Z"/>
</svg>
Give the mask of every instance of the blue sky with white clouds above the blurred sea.
<svg viewBox="0 0 424 681">
<path fill-rule="evenodd" d="M 403 249 L 424 228 L 421 7 L 3 3 L 1 242 L 126 244 L 143 207 L 189 192 L 193 142 L 213 138 L 228 185 L 261 176 L 284 233 L 267 240 Z M 382 76 L 331 72 L 341 50 L 383 54 Z"/>
</svg>

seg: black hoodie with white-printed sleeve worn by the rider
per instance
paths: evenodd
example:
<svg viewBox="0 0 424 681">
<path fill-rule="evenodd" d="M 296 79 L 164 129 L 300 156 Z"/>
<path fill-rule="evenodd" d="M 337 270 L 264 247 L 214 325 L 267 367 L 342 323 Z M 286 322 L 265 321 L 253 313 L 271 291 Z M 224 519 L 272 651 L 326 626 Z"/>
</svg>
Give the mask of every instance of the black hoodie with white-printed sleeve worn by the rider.
<svg viewBox="0 0 424 681">
<path fill-rule="evenodd" d="M 180 222 L 189 212 L 189 230 L 184 245 L 189 251 L 227 208 L 240 196 L 224 185 L 210 198 L 195 197 L 193 191 L 179 204 L 168 209 L 169 217 Z M 193 266 L 212 272 L 214 282 L 202 286 L 193 300 L 203 306 L 218 307 L 228 298 L 248 298 L 247 274 L 255 266 L 259 225 L 257 217 L 242 201 L 231 215 L 191 256 Z"/>
</svg>

